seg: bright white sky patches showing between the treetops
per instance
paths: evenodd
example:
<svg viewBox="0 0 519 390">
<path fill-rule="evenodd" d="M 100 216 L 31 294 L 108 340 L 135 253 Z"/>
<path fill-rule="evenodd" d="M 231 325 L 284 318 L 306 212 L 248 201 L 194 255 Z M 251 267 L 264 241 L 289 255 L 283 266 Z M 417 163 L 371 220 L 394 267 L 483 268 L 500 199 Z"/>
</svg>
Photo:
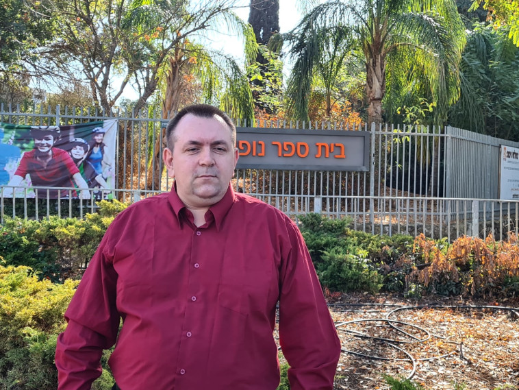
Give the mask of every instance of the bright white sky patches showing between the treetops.
<svg viewBox="0 0 519 390">
<path fill-rule="evenodd" d="M 296 1 L 298 0 L 279 0 L 279 29 L 281 33 L 289 32 L 296 26 L 297 22 L 299 22 L 302 17 L 296 7 Z M 244 0 L 244 3 L 249 4 L 249 0 Z M 236 14 L 238 14 L 238 16 L 240 16 L 244 21 L 247 21 L 249 19 L 249 5 L 237 8 Z M 214 39 L 210 41 L 210 47 L 230 54 L 236 58 L 239 64 L 244 62 L 244 42 L 236 36 L 227 35 L 225 38 L 221 38 L 221 35 L 215 36 Z M 284 71 L 286 73 L 287 69 Z M 127 86 L 122 97 L 136 100 L 138 95 L 131 86 Z"/>
</svg>

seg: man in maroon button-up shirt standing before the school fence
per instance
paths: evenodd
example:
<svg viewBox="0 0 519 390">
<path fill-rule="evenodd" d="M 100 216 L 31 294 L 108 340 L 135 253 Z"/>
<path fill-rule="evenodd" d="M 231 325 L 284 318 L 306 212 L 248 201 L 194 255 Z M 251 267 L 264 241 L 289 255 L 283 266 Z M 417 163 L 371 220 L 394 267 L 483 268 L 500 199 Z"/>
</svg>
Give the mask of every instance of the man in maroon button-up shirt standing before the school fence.
<svg viewBox="0 0 519 390">
<path fill-rule="evenodd" d="M 233 192 L 233 123 L 189 106 L 166 141 L 174 188 L 107 230 L 65 313 L 58 389 L 90 389 L 101 350 L 116 343 L 109 364 L 122 390 L 275 390 L 279 302 L 292 390 L 331 390 L 340 343 L 314 267 L 286 215 Z"/>
</svg>

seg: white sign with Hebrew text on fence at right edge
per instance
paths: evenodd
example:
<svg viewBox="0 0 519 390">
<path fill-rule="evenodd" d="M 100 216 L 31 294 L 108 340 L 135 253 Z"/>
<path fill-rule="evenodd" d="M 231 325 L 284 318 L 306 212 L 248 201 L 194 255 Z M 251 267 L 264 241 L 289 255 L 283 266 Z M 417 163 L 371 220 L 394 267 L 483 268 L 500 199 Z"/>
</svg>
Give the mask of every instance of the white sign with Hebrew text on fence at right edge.
<svg viewBox="0 0 519 390">
<path fill-rule="evenodd" d="M 519 149 L 501 145 L 499 199 L 519 200 Z"/>
</svg>

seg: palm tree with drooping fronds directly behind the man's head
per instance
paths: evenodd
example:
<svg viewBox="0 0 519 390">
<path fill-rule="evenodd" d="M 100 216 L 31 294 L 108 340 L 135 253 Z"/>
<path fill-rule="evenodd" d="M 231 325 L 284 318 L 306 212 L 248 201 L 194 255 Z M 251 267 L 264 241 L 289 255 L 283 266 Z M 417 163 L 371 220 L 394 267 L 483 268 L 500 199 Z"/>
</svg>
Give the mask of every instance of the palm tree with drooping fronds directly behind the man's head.
<svg viewBox="0 0 519 390">
<path fill-rule="evenodd" d="M 162 86 L 162 119 L 173 117 L 179 109 L 181 90 L 185 87 L 184 76 L 194 75 L 201 84 L 202 98 L 207 102 L 218 101 L 220 108 L 236 118 L 253 118 L 253 99 L 246 76 L 236 62 L 222 53 L 211 51 L 190 40 L 212 31 L 210 27 L 222 25 L 227 31 L 245 38 L 247 58 L 255 58 L 257 45 L 251 27 L 231 10 L 229 0 L 207 2 L 197 13 L 190 13 L 188 1 L 134 0 L 124 24 L 128 31 L 136 30 L 153 47 L 153 38 L 158 42 L 164 34 L 174 42 L 173 49 L 166 53 L 162 66 L 157 71 L 157 86 Z M 173 21 L 175 20 L 176 22 Z M 168 31 L 161 29 L 160 21 L 168 20 Z M 230 91 L 230 92 L 229 92 Z M 162 176 L 162 150 L 164 128 L 155 139 L 154 153 L 149 156 L 147 188 L 160 189 Z M 150 148 L 152 149 L 152 148 Z"/>
</svg>

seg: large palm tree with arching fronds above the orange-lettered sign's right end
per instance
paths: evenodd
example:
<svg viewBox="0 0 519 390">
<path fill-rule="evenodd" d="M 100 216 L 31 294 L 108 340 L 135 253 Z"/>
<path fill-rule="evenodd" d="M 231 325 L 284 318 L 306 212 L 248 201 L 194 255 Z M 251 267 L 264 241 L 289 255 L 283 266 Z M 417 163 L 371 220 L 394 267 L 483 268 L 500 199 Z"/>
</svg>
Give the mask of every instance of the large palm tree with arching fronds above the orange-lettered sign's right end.
<svg viewBox="0 0 519 390">
<path fill-rule="evenodd" d="M 322 45 L 323 36 L 342 38 L 336 45 Z M 437 106 L 437 121 L 446 118 L 448 106 L 459 96 L 459 62 L 466 38 L 453 0 L 329 1 L 309 12 L 289 38 L 294 68 L 288 91 L 296 119 L 307 119 L 309 83 L 323 54 L 329 49 L 345 53 L 355 45 L 366 66 L 369 123 L 382 122 L 388 80 L 393 83 L 390 88 L 412 80 L 422 85 L 418 89 L 427 89 Z M 335 61 L 338 66 L 340 56 Z M 388 72 L 395 77 L 388 78 Z"/>
</svg>

